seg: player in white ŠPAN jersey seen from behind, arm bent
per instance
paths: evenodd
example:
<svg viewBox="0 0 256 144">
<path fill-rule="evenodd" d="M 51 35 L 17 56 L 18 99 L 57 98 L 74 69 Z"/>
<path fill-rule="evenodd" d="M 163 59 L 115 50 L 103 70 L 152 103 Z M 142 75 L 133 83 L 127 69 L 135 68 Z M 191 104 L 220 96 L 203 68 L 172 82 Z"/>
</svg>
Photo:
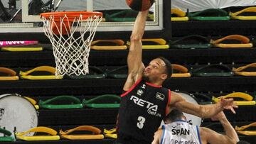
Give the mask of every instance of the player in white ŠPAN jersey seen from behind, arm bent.
<svg viewBox="0 0 256 144">
<path fill-rule="evenodd" d="M 192 126 L 186 123 L 186 117 L 181 111 L 174 109 L 169 113 L 164 122 L 166 123 L 154 135 L 152 144 L 235 144 L 238 143 L 238 134 L 229 123 L 223 112 L 213 116 L 223 125 L 225 135 L 217 133 L 209 128 Z"/>
</svg>

